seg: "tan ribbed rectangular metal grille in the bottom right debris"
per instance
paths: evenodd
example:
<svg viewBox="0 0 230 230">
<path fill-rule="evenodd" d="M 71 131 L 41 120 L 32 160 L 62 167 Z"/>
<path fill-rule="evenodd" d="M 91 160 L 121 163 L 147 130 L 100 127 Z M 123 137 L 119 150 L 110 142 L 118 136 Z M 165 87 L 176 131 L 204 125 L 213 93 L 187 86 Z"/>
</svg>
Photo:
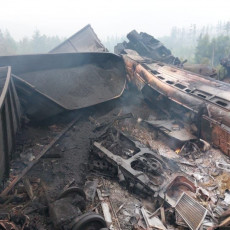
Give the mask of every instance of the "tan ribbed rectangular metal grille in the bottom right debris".
<svg viewBox="0 0 230 230">
<path fill-rule="evenodd" d="M 175 209 L 192 230 L 199 229 L 207 214 L 207 209 L 186 193 L 181 195 Z"/>
</svg>

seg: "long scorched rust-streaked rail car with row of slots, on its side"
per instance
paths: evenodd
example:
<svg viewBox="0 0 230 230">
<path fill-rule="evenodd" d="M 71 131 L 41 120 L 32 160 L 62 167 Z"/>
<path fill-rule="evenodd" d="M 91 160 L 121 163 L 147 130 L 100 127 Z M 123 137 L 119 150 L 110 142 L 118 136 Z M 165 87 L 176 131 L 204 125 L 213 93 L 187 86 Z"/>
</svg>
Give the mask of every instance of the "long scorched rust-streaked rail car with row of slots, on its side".
<svg viewBox="0 0 230 230">
<path fill-rule="evenodd" d="M 148 100 L 230 156 L 229 84 L 135 55 L 123 58 L 130 82 Z"/>
</svg>

